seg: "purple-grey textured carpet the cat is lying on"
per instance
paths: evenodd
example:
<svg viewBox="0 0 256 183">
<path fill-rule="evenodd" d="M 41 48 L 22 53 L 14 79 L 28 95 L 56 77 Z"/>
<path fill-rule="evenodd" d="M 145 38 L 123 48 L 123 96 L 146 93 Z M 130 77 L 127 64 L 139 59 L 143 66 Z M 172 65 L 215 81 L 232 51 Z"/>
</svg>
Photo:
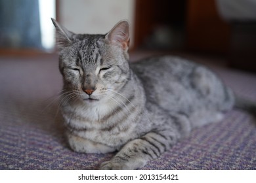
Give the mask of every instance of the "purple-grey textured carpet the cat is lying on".
<svg viewBox="0 0 256 183">
<path fill-rule="evenodd" d="M 256 101 L 256 75 L 212 69 Z M 57 112 L 61 88 L 56 56 L 0 58 L 0 169 L 98 169 L 112 158 L 70 150 Z M 142 169 L 256 169 L 256 120 L 232 110 Z"/>
</svg>

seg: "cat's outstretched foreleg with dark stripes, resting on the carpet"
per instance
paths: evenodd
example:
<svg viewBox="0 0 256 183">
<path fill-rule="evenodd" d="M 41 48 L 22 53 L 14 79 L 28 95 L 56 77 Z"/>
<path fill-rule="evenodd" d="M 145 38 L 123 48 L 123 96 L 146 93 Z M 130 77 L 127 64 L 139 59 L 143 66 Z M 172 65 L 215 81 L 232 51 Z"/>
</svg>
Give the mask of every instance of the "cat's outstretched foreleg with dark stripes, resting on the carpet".
<svg viewBox="0 0 256 183">
<path fill-rule="evenodd" d="M 171 131 L 152 131 L 140 139 L 127 143 L 110 161 L 102 163 L 100 169 L 138 169 L 150 159 L 158 158 L 177 141 Z"/>
</svg>

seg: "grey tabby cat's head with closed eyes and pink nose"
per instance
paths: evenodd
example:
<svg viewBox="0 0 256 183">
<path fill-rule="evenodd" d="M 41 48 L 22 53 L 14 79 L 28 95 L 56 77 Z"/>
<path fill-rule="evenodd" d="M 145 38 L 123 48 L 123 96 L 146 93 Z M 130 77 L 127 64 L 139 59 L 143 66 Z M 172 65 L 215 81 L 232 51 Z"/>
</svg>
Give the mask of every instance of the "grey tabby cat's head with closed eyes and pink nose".
<svg viewBox="0 0 256 183">
<path fill-rule="evenodd" d="M 94 102 L 108 97 L 110 90 L 123 87 L 130 73 L 127 21 L 117 23 L 104 35 L 82 35 L 52 20 L 56 27 L 64 92 Z"/>
</svg>

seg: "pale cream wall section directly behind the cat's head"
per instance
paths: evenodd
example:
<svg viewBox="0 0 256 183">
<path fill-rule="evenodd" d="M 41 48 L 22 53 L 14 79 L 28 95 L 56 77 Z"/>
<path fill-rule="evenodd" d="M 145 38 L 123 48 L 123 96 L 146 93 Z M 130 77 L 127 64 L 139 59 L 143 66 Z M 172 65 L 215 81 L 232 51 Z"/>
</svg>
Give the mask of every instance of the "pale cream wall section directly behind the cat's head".
<svg viewBox="0 0 256 183">
<path fill-rule="evenodd" d="M 126 19 L 133 30 L 134 1 L 62 0 L 59 1 L 60 23 L 74 33 L 107 33 L 117 22 Z"/>
</svg>

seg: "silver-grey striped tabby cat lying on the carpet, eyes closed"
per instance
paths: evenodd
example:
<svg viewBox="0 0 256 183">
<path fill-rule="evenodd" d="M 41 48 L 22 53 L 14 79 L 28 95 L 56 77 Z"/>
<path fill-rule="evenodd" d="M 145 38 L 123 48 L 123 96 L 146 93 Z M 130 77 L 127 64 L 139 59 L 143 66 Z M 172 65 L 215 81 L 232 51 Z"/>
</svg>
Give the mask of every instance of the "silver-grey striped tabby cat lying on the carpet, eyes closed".
<svg viewBox="0 0 256 183">
<path fill-rule="evenodd" d="M 192 61 L 161 56 L 129 63 L 129 23 L 104 35 L 56 27 L 61 114 L 75 152 L 116 152 L 100 169 L 139 169 L 192 129 L 223 119 L 234 92 Z"/>
</svg>

